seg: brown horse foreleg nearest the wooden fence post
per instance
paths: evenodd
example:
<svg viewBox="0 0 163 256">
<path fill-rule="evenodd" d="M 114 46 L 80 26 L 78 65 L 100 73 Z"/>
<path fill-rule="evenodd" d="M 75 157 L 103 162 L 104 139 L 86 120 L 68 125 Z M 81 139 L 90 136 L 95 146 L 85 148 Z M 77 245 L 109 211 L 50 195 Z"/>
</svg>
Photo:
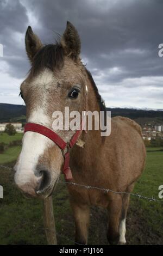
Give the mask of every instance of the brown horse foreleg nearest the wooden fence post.
<svg viewBox="0 0 163 256">
<path fill-rule="evenodd" d="M 87 233 L 89 227 L 90 209 L 88 205 L 79 204 L 71 200 L 71 207 L 73 210 L 76 237 L 75 242 L 81 245 L 87 244 Z"/>
</svg>

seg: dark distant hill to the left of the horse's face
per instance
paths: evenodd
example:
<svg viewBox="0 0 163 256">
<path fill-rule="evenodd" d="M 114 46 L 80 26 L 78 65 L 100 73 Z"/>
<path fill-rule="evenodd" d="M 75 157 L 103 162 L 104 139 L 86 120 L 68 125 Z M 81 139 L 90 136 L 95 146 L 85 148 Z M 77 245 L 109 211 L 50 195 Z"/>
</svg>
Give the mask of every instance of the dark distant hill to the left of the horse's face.
<svg viewBox="0 0 163 256">
<path fill-rule="evenodd" d="M 26 106 L 0 103 L 0 122 L 25 120 Z"/>
</svg>

